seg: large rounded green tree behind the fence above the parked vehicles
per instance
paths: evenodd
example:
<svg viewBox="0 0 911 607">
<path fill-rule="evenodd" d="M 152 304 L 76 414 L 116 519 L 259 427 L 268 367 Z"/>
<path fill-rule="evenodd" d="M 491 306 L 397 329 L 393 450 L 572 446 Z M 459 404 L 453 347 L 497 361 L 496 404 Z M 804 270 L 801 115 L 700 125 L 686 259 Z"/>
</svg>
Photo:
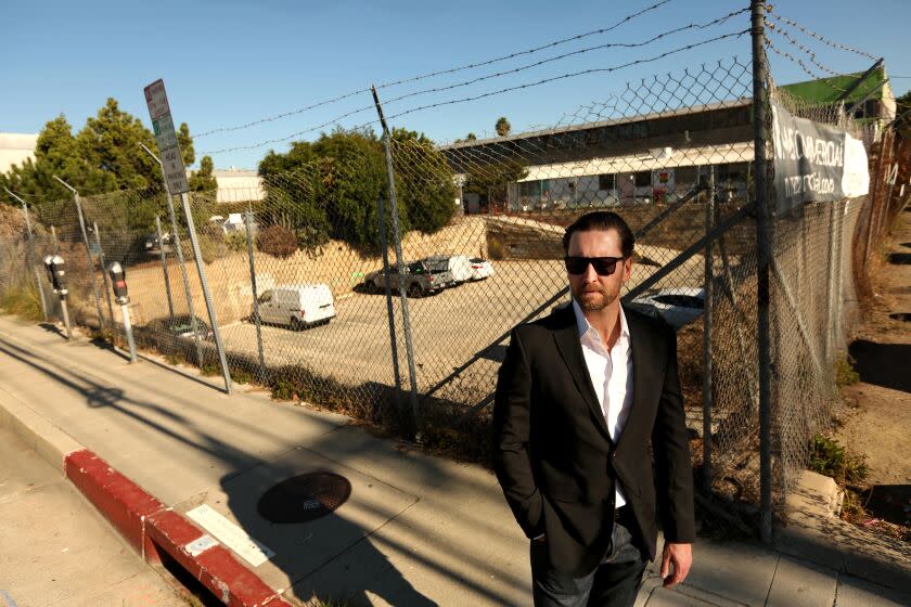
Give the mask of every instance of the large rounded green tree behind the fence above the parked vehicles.
<svg viewBox="0 0 911 607">
<path fill-rule="evenodd" d="M 405 129 L 393 132 L 393 145 L 401 231 L 438 230 L 454 212 L 451 172 L 442 156 L 425 135 Z M 363 251 L 378 248 L 376 202 L 387 196 L 386 165 L 372 131 L 336 129 L 315 142 L 295 142 L 285 154 L 270 151 L 259 175 L 266 182 L 267 222 L 294 231 L 304 247 L 317 249 L 336 238 Z"/>
</svg>

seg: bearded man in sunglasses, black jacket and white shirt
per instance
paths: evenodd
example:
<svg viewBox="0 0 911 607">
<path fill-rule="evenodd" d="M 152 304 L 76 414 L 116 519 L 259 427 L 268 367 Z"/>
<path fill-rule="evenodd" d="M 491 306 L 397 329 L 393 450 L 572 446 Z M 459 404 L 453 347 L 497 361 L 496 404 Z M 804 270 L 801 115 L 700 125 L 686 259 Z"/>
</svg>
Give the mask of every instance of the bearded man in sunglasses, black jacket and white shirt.
<svg viewBox="0 0 911 607">
<path fill-rule="evenodd" d="M 531 543 L 535 605 L 627 606 L 655 558 L 657 516 L 664 585 L 692 563 L 677 339 L 620 306 L 633 236 L 618 215 L 580 217 L 563 248 L 574 300 L 513 330 L 497 383 L 495 467 Z"/>
</svg>

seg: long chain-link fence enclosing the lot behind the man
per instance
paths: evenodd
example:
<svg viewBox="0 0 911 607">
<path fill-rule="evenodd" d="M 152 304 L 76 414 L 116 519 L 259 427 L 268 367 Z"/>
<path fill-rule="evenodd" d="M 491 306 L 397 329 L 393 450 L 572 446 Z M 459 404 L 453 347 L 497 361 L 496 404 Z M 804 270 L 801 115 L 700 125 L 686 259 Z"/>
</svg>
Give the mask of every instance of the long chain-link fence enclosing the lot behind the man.
<svg viewBox="0 0 911 607">
<path fill-rule="evenodd" d="M 754 162 L 753 86 L 753 63 L 730 57 L 637 80 L 548 129 L 447 145 L 398 129 L 326 137 L 293 170 L 261 169 L 256 188 L 190 194 L 194 234 L 161 188 L 42 202 L 30 237 L 0 237 L 0 284 L 41 284 L 59 318 L 43 269 L 33 276 L 34 260 L 59 254 L 74 322 L 123 338 L 103 271 L 118 261 L 141 347 L 483 459 L 510 330 L 569 301 L 564 228 L 614 210 L 637 238 L 625 305 L 678 332 L 705 488 L 759 506 L 754 193 L 771 176 Z M 859 128 L 771 92 L 795 116 Z M 907 202 L 895 184 L 908 146 L 852 132 L 868 144 L 870 196 L 772 222 L 767 489 L 778 506 L 837 408 L 834 369 L 871 243 Z"/>
</svg>

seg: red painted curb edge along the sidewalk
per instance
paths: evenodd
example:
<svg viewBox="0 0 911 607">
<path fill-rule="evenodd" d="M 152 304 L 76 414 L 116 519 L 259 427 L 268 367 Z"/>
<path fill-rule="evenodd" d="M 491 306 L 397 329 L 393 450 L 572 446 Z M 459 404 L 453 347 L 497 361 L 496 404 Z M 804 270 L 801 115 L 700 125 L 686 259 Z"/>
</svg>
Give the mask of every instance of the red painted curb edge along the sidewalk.
<svg viewBox="0 0 911 607">
<path fill-rule="evenodd" d="M 63 468 L 66 478 L 146 561 L 161 561 L 159 551 L 168 554 L 229 607 L 292 607 L 222 545 L 190 554 L 187 544 L 205 531 L 88 449 L 68 454 Z"/>
</svg>

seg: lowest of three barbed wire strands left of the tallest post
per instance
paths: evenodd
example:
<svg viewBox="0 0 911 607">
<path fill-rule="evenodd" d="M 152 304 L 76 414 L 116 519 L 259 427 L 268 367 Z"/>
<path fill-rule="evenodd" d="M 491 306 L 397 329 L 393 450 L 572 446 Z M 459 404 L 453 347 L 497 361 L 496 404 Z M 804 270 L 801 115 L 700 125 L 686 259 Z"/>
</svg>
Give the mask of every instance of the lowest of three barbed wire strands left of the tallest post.
<svg viewBox="0 0 911 607">
<path fill-rule="evenodd" d="M 587 75 L 590 75 L 590 74 L 608 74 L 608 73 L 612 73 L 612 72 L 616 72 L 618 69 L 624 69 L 626 67 L 632 67 L 634 65 L 653 63 L 655 61 L 662 60 L 666 56 L 669 56 L 669 55 L 672 55 L 672 54 L 676 54 L 676 53 L 685 52 L 685 51 L 689 51 L 691 49 L 695 49 L 697 47 L 703 47 L 705 44 L 709 44 L 711 42 L 717 42 L 717 41 L 720 41 L 720 40 L 724 40 L 727 38 L 741 37 L 741 36 L 744 36 L 748 33 L 749 33 L 749 29 L 744 29 L 744 30 L 740 30 L 740 31 L 732 31 L 732 33 L 729 33 L 729 34 L 723 34 L 721 36 L 716 36 L 714 38 L 709 38 L 707 40 L 702 40 L 700 42 L 693 42 L 691 44 L 685 44 L 683 47 L 678 47 L 676 49 L 672 49 L 670 51 L 666 51 L 664 53 L 660 53 L 660 54 L 652 56 L 652 57 L 636 60 L 636 61 L 631 61 L 631 62 L 624 63 L 624 64 L 620 64 L 620 65 L 615 65 L 615 66 L 612 66 L 612 67 L 594 67 L 594 68 L 590 68 L 590 69 L 582 69 L 582 70 L 579 70 L 579 72 L 570 72 L 570 73 L 567 73 L 567 74 L 562 74 L 560 76 L 554 76 L 554 77 L 551 77 L 551 78 L 543 78 L 543 79 L 537 80 L 535 82 L 526 82 L 524 85 L 517 85 L 515 87 L 508 87 L 508 88 L 500 89 L 500 90 L 497 90 L 497 91 L 488 91 L 486 93 L 482 93 L 482 94 L 474 95 L 474 96 L 466 96 L 466 98 L 461 98 L 461 99 L 455 99 L 455 100 L 448 100 L 448 101 L 441 101 L 441 102 L 438 102 L 438 103 L 431 103 L 431 104 L 426 104 L 426 105 L 421 105 L 421 106 L 418 106 L 418 107 L 412 107 L 410 109 L 406 109 L 403 112 L 399 112 L 397 114 L 393 114 L 393 115 L 387 117 L 387 120 L 392 120 L 394 118 L 398 118 L 398 117 L 406 116 L 408 114 L 413 114 L 415 112 L 421 112 L 421 111 L 424 111 L 424 109 L 431 109 L 431 108 L 434 108 L 434 107 L 441 107 L 441 106 L 446 106 L 446 105 L 455 105 L 455 104 L 460 104 L 460 103 L 467 103 L 467 102 L 471 102 L 471 101 L 477 101 L 477 100 L 480 100 L 480 99 L 486 99 L 486 98 L 489 98 L 489 96 L 495 96 L 495 95 L 503 94 L 503 93 L 506 93 L 506 92 L 512 92 L 512 91 L 516 91 L 516 90 L 523 90 L 523 89 L 529 89 L 529 88 L 533 88 L 533 87 L 538 87 L 538 86 L 546 85 L 546 83 L 549 83 L 549 82 L 554 82 L 554 81 L 557 81 L 557 80 L 565 80 L 567 78 L 575 78 L 575 77 L 578 77 L 578 76 L 587 76 Z M 316 130 L 325 128 L 328 126 L 337 124 L 338 120 L 341 120 L 343 118 L 349 117 L 349 116 L 355 115 L 355 114 L 359 114 L 359 113 L 364 112 L 367 109 L 372 109 L 373 107 L 374 107 L 373 105 L 369 105 L 369 106 L 365 106 L 365 107 L 361 107 L 359 109 L 354 109 L 351 112 L 343 114 L 342 116 L 338 116 L 336 118 L 328 120 L 328 121 L 323 122 L 322 125 L 318 125 L 316 127 L 311 127 L 311 128 L 308 128 L 308 129 L 305 129 L 305 130 L 301 130 L 301 131 L 297 131 L 297 132 L 291 133 L 291 134 L 282 137 L 282 138 L 269 139 L 269 140 L 261 141 L 259 143 L 254 143 L 254 144 L 251 144 L 251 145 L 240 145 L 240 146 L 234 146 L 234 147 L 224 147 L 224 148 L 221 148 L 221 150 L 208 150 L 208 151 L 200 152 L 200 154 L 203 154 L 203 155 L 227 154 L 227 153 L 230 153 L 230 152 L 242 152 L 242 151 L 247 151 L 247 150 L 256 150 L 256 148 L 262 147 L 265 145 L 270 145 L 270 144 L 274 144 L 274 143 L 283 143 L 283 142 L 290 141 L 290 140 L 296 138 L 296 137 L 300 137 L 303 134 L 307 134 L 307 133 L 313 132 Z M 377 122 L 378 122 L 377 119 L 368 120 L 367 122 L 363 122 L 363 124 L 355 127 L 354 130 L 363 130 L 363 129 L 367 129 L 367 128 L 369 128 L 372 125 L 375 125 Z"/>
</svg>

